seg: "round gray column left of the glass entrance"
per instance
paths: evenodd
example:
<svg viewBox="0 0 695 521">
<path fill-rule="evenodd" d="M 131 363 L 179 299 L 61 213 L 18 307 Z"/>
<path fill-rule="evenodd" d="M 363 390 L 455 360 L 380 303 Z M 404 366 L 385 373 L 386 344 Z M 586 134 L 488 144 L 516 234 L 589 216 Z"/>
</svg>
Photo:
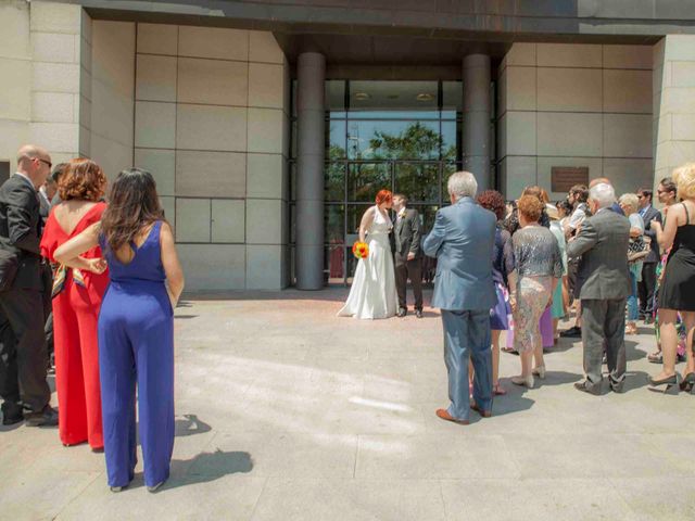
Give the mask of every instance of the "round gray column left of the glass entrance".
<svg viewBox="0 0 695 521">
<path fill-rule="evenodd" d="M 296 63 L 296 288 L 324 288 L 324 155 L 326 59 L 317 52 Z"/>
</svg>

